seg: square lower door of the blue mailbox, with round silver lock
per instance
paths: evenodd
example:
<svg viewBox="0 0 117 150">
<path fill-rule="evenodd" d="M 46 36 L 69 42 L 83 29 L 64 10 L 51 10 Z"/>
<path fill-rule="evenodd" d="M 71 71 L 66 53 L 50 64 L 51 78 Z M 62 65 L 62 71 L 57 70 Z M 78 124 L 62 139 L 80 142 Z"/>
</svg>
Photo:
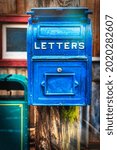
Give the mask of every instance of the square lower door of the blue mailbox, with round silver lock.
<svg viewBox="0 0 117 150">
<path fill-rule="evenodd" d="M 87 63 L 35 61 L 33 63 L 33 104 L 84 105 L 87 101 Z M 31 85 L 30 85 L 31 86 Z"/>
</svg>

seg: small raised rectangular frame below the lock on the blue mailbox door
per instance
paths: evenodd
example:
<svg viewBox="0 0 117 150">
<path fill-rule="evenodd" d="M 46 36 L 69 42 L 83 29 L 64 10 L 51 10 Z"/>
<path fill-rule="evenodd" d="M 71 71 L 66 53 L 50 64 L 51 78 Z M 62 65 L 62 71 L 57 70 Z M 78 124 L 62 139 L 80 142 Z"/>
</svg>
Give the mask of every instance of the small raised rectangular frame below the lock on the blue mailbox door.
<svg viewBox="0 0 117 150">
<path fill-rule="evenodd" d="M 44 95 L 74 95 L 78 86 L 75 73 L 45 73 L 45 80 L 41 85 Z"/>
</svg>

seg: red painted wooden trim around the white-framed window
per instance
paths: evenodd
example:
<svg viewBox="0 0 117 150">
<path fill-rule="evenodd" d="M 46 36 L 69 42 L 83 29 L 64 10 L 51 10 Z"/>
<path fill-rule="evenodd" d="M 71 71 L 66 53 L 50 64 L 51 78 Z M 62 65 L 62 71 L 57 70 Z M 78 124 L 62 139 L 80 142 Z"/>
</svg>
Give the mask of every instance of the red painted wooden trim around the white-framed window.
<svg viewBox="0 0 117 150">
<path fill-rule="evenodd" d="M 0 67 L 26 67 L 25 59 L 2 59 L 2 24 L 21 23 L 27 24 L 29 15 L 7 15 L 0 16 Z"/>
</svg>

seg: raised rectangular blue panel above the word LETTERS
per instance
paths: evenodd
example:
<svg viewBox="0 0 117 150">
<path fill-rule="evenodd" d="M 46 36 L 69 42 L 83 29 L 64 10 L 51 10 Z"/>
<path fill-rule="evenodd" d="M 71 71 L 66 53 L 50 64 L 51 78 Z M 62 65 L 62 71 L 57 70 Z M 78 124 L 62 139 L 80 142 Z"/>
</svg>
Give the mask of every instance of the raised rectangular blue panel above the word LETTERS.
<svg viewBox="0 0 117 150">
<path fill-rule="evenodd" d="M 38 26 L 37 39 L 83 39 L 85 27 L 78 23 L 71 25 L 43 24 Z"/>
</svg>

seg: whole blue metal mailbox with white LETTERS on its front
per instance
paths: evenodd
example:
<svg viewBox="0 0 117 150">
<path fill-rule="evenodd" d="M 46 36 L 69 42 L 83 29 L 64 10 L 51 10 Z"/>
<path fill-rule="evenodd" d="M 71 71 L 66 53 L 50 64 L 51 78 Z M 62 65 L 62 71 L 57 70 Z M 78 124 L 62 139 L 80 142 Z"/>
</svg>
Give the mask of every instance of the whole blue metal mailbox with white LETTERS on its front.
<svg viewBox="0 0 117 150">
<path fill-rule="evenodd" d="M 29 104 L 90 104 L 90 13 L 84 7 L 31 9 L 27 29 Z"/>
</svg>

